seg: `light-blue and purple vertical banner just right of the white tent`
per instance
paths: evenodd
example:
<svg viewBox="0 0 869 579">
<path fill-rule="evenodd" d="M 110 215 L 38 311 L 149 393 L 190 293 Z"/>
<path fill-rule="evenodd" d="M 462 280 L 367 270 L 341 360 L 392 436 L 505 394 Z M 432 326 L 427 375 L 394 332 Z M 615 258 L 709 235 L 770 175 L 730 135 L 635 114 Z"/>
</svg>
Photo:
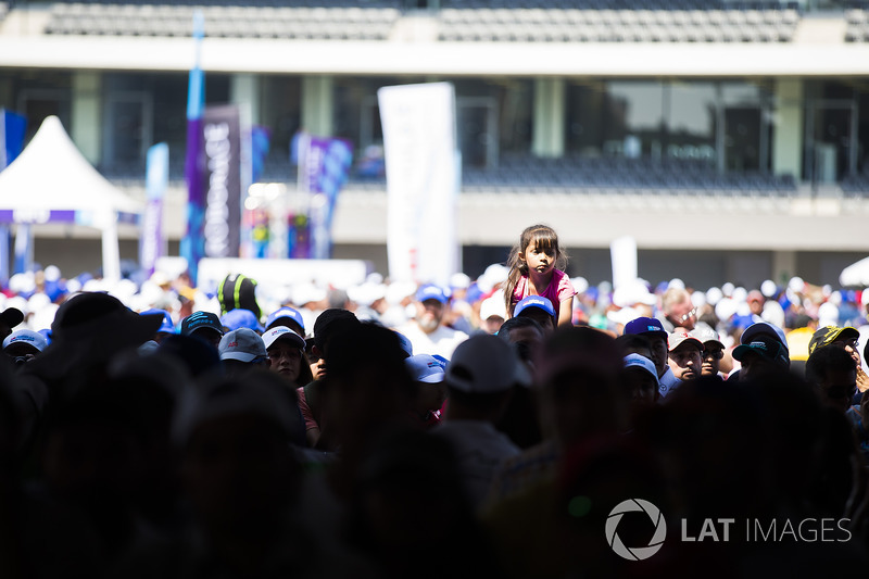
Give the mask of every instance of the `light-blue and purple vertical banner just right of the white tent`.
<svg viewBox="0 0 869 579">
<path fill-rule="evenodd" d="M 139 240 L 139 265 L 150 277 L 163 255 L 163 198 L 169 178 L 169 147 L 165 142 L 148 149 L 144 172 L 147 203 Z"/>
</svg>

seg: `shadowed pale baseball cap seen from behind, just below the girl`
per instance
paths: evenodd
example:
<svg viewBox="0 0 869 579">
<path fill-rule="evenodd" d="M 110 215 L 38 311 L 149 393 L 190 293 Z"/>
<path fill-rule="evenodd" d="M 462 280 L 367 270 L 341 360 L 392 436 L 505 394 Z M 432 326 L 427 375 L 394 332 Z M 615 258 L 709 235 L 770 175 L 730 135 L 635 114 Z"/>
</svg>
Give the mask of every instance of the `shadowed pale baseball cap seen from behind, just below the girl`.
<svg viewBox="0 0 869 579">
<path fill-rule="evenodd" d="M 496 336 L 471 336 L 456 347 L 446 365 L 446 383 L 462 392 L 494 394 L 530 382 L 516 350 Z"/>
</svg>

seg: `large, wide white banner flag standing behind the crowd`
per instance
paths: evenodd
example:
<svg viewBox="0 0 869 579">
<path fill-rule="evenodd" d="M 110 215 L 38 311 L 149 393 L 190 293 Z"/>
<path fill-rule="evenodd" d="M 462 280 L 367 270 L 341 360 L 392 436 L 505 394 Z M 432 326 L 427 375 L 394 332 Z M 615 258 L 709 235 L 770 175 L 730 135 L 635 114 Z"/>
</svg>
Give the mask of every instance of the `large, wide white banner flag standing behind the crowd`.
<svg viewBox="0 0 869 579">
<path fill-rule="evenodd" d="M 445 287 L 461 268 L 453 85 L 383 87 L 377 97 L 387 169 L 389 277 Z"/>
</svg>

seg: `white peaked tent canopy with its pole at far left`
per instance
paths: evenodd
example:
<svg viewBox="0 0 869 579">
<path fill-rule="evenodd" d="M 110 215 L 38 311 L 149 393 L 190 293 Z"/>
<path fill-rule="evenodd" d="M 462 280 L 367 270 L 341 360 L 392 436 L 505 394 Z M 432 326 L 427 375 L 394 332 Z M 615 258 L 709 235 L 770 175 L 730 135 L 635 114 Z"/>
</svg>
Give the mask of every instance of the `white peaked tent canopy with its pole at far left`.
<svg viewBox="0 0 869 579">
<path fill-rule="evenodd" d="M 0 172 L 0 221 L 70 223 L 102 231 L 106 279 L 121 278 L 118 219 L 142 206 L 118 191 L 78 151 L 56 116 L 49 116 L 18 158 Z"/>
</svg>

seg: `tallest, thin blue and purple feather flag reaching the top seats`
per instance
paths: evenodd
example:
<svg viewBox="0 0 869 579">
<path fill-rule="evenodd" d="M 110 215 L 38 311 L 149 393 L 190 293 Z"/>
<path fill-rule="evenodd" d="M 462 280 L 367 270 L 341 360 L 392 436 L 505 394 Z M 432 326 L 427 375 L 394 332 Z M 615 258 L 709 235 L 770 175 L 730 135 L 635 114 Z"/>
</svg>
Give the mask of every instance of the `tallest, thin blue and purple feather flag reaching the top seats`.
<svg viewBox="0 0 869 579">
<path fill-rule="evenodd" d="M 203 166 L 200 166 L 202 148 L 202 110 L 205 103 L 205 75 L 200 67 L 200 52 L 204 36 L 204 16 L 193 12 L 193 42 L 196 61 L 190 70 L 187 89 L 187 154 L 184 176 L 187 181 L 187 230 L 181 238 L 180 254 L 187 260 L 190 280 L 197 282 L 199 260 L 205 256 L 205 196 L 202 187 Z"/>
</svg>

